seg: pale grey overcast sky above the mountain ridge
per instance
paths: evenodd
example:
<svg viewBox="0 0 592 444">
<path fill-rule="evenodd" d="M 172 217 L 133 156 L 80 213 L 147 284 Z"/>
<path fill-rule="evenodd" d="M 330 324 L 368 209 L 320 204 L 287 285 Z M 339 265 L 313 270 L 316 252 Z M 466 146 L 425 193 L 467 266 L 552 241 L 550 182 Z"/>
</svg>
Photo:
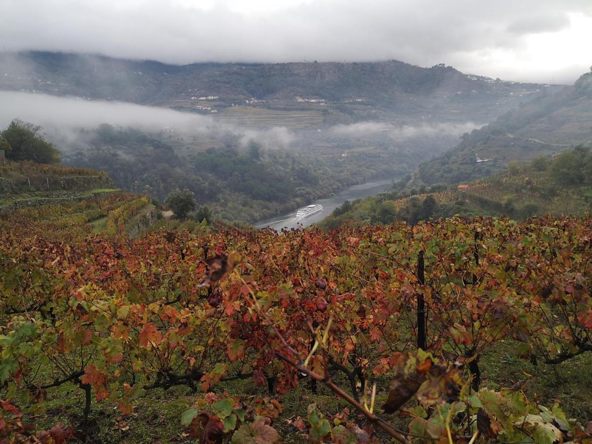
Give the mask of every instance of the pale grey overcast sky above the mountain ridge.
<svg viewBox="0 0 592 444">
<path fill-rule="evenodd" d="M 571 83 L 592 0 L 0 0 L 4 50 L 166 63 L 374 61 Z"/>
</svg>

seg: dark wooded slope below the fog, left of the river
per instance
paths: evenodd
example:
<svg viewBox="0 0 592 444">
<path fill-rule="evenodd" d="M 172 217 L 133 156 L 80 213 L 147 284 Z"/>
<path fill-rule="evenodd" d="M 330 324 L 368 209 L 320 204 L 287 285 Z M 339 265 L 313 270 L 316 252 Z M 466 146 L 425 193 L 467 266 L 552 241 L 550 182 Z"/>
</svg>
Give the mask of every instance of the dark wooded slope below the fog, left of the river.
<svg viewBox="0 0 592 444">
<path fill-rule="evenodd" d="M 68 165 L 105 170 L 122 188 L 160 201 L 175 188 L 190 189 L 198 204 L 227 221 L 256 221 L 345 186 L 395 177 L 416 158 L 403 150 L 371 148 L 344 158 L 341 152 L 266 149 L 256 142 L 198 150 L 166 133 L 108 125 L 83 136 L 65 147 Z"/>
</svg>

